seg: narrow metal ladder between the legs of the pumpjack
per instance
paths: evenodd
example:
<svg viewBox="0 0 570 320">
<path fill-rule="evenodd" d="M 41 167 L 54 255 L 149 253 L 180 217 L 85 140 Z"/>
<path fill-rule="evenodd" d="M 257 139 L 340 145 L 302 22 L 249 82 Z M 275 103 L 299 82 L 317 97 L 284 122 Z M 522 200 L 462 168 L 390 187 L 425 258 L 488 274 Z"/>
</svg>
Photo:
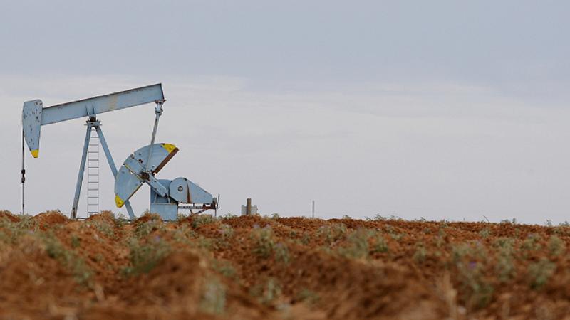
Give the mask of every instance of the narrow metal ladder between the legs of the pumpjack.
<svg viewBox="0 0 570 320">
<path fill-rule="evenodd" d="M 99 136 L 91 128 L 87 149 L 87 216 L 99 213 Z"/>
</svg>

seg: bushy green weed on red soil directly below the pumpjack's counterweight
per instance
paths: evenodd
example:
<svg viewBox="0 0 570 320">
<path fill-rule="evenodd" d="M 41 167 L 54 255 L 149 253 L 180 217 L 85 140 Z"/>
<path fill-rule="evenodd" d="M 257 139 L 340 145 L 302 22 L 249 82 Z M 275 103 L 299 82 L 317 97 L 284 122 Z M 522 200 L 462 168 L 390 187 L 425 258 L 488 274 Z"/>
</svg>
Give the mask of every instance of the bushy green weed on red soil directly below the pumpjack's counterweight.
<svg viewBox="0 0 570 320">
<path fill-rule="evenodd" d="M 148 273 L 170 254 L 170 245 L 160 238 L 142 243 L 138 239 L 130 238 L 130 267 L 123 269 L 126 276 Z"/>
</svg>

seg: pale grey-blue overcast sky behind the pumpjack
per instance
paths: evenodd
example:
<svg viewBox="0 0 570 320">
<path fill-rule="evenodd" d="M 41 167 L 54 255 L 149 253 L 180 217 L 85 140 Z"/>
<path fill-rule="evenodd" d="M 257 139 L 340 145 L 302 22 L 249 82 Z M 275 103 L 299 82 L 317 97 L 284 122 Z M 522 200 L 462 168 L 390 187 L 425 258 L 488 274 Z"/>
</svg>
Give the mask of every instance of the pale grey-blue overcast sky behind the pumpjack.
<svg viewBox="0 0 570 320">
<path fill-rule="evenodd" d="M 21 107 L 162 83 L 157 142 L 260 213 L 570 220 L 567 1 L 0 0 L 0 210 L 21 211 Z M 119 166 L 153 105 L 100 114 Z M 26 153 L 26 213 L 71 210 L 85 119 Z M 101 154 L 103 157 L 103 154 Z M 102 159 L 103 160 L 103 159 Z M 114 205 L 101 162 L 100 209 Z M 149 189 L 133 196 L 148 208 Z M 86 193 L 79 214 L 86 215 Z"/>
</svg>

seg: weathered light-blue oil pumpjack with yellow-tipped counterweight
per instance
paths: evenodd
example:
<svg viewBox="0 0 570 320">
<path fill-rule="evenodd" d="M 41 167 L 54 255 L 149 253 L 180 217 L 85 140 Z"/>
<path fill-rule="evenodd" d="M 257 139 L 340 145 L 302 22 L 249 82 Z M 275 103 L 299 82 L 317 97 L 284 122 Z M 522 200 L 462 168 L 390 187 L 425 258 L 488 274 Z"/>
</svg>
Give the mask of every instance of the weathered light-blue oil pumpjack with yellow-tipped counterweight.
<svg viewBox="0 0 570 320">
<path fill-rule="evenodd" d="M 175 220 L 179 209 L 190 209 L 190 213 L 201 213 L 209 209 L 217 210 L 217 198 L 214 198 L 210 193 L 187 178 L 175 178 L 173 180 L 155 178 L 160 169 L 178 152 L 178 148 L 174 144 L 155 143 L 158 120 L 162 115 L 162 106 L 165 101 L 162 85 L 159 83 L 51 107 L 43 107 L 41 100 L 24 102 L 22 110 L 23 140 L 26 141 L 33 158 L 38 158 L 39 156 L 42 126 L 82 117 L 87 118 L 87 134 L 79 166 L 76 192 L 75 196 L 73 196 L 71 218 L 77 217 L 92 129 L 95 129 L 97 132 L 100 144 L 115 178 L 115 204 L 118 208 L 125 206 L 130 219 L 134 219 L 135 214 L 132 206 L 130 206 L 129 199 L 143 183 L 150 186 L 150 212 L 159 214 L 163 220 Z M 123 166 L 117 170 L 113 156 L 111 156 L 103 136 L 97 114 L 145 105 L 151 102 L 155 102 L 155 124 L 152 128 L 150 144 L 133 152 L 123 162 Z M 22 147 L 24 148 L 24 142 L 22 142 Z M 22 156 L 22 199 L 24 199 L 24 154 Z M 192 210 L 196 210 L 196 212 Z"/>
</svg>

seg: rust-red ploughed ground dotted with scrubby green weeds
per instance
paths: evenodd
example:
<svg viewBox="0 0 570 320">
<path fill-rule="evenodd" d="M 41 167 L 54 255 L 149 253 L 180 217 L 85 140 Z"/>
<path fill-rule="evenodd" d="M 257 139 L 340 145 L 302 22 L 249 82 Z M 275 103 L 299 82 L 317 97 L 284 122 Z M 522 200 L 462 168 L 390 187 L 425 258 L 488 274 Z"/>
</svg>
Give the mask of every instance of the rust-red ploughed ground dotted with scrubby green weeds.
<svg viewBox="0 0 570 320">
<path fill-rule="evenodd" d="M 570 226 L 0 211 L 0 319 L 570 319 Z"/>
</svg>

